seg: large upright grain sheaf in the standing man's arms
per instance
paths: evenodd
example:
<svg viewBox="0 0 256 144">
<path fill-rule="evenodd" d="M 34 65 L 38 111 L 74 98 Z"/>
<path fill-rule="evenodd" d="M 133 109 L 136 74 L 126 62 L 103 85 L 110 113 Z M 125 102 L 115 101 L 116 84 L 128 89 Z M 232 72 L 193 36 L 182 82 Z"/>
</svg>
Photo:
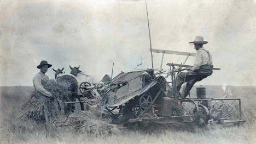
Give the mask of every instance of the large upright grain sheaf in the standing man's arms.
<svg viewBox="0 0 256 144">
<path fill-rule="evenodd" d="M 42 84 L 54 98 L 50 99 L 38 91 L 33 91 L 30 99 L 21 105 L 17 115 L 18 120 L 52 123 L 61 115 L 61 110 L 66 107 L 63 102 L 68 101 L 68 96 L 71 95 L 71 91 L 68 90 L 69 83 L 56 83 L 51 79 Z"/>
</svg>

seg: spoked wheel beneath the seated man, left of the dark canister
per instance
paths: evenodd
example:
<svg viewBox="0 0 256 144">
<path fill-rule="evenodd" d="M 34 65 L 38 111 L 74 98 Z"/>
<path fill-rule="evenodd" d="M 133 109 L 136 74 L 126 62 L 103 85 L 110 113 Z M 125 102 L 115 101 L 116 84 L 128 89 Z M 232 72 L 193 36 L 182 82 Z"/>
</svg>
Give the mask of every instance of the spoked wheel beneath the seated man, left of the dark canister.
<svg viewBox="0 0 256 144">
<path fill-rule="evenodd" d="M 197 103 L 191 99 L 184 99 L 181 102 L 186 102 L 186 107 L 183 107 L 183 122 L 192 123 L 199 117 L 199 107 Z M 187 115 L 187 116 L 186 116 Z"/>
</svg>

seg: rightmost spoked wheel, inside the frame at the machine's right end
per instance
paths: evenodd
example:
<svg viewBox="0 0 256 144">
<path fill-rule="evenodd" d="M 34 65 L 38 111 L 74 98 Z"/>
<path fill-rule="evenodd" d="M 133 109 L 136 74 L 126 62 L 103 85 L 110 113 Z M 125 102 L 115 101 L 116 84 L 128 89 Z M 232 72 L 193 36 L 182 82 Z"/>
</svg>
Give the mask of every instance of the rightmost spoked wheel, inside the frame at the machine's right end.
<svg viewBox="0 0 256 144">
<path fill-rule="evenodd" d="M 237 109 L 234 105 L 224 103 L 220 105 L 219 109 L 223 112 L 223 118 L 237 118 Z"/>
</svg>

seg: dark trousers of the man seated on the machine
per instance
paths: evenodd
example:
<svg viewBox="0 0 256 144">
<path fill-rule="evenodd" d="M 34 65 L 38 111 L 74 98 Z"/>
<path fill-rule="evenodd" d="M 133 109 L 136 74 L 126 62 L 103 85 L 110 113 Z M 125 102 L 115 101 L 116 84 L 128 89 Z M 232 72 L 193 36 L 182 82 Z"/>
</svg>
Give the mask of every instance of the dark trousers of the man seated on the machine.
<svg viewBox="0 0 256 144">
<path fill-rule="evenodd" d="M 181 90 L 182 84 L 187 83 L 183 88 L 183 91 L 181 93 L 182 95 L 181 98 L 187 97 L 189 95 L 190 90 L 192 89 L 192 87 L 196 82 L 199 82 L 202 79 L 208 76 L 211 76 L 211 74 L 212 74 L 211 65 L 203 65 L 197 71 L 181 72 L 177 74 L 177 77 L 175 79 L 176 90 L 174 90 L 175 91 L 174 95 L 178 96 L 179 91 Z"/>
</svg>

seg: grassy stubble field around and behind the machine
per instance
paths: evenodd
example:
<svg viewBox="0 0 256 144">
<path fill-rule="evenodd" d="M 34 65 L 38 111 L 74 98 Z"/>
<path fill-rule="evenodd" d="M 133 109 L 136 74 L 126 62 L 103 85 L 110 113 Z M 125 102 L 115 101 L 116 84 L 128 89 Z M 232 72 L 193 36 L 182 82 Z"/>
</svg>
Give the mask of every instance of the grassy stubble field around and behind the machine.
<svg viewBox="0 0 256 144">
<path fill-rule="evenodd" d="M 241 98 L 243 118 L 247 121 L 240 127 L 206 127 L 190 130 L 157 129 L 143 133 L 117 129 L 108 135 L 55 133 L 45 137 L 45 131 L 17 132 L 15 124 L 18 108 L 30 95 L 33 87 L 0 87 L 1 134 L 0 143 L 256 143 L 256 87 L 206 86 L 207 96 Z M 195 92 L 195 87 L 193 90 Z"/>
</svg>

